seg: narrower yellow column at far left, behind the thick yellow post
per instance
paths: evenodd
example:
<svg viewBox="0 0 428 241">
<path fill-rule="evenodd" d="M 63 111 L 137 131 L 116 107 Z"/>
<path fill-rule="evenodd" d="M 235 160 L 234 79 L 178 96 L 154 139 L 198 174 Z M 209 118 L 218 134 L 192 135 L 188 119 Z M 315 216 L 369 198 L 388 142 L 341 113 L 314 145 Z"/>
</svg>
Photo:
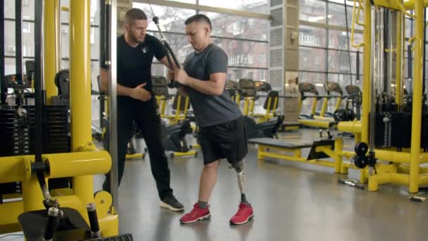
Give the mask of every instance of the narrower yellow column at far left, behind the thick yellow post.
<svg viewBox="0 0 428 241">
<path fill-rule="evenodd" d="M 51 97 L 58 94 L 58 89 L 53 81 L 56 73 L 56 9 L 58 0 L 44 1 L 44 86 L 46 89 L 46 103 L 51 104 Z"/>
</svg>

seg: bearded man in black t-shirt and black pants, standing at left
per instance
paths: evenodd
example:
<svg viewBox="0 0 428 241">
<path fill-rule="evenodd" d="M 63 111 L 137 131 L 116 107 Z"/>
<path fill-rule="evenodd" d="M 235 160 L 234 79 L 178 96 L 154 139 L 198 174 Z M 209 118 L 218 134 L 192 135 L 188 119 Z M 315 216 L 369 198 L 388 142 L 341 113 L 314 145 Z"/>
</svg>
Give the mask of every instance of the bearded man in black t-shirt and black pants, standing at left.
<svg viewBox="0 0 428 241">
<path fill-rule="evenodd" d="M 132 121 L 141 130 L 150 155 L 151 173 L 156 180 L 160 206 L 182 211 L 170 187 L 170 169 L 162 143 L 160 116 L 156 99 L 151 96 L 151 63 L 153 56 L 169 68 L 162 43 L 146 34 L 147 16 L 138 8 L 125 14 L 125 35 L 118 37 L 118 172 L 119 183 L 125 169 L 127 143 L 132 137 Z M 103 61 L 104 63 L 104 61 Z M 101 89 L 107 89 L 107 66 L 101 67 Z M 110 191 L 110 175 L 103 190 Z"/>
</svg>

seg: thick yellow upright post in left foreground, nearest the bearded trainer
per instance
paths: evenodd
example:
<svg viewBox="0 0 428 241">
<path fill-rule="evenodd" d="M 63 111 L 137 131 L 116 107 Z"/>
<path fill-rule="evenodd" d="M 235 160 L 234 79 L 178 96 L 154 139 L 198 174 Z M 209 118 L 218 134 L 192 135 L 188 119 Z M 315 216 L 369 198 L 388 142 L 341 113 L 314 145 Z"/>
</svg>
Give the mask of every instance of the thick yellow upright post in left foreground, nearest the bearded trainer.
<svg viewBox="0 0 428 241">
<path fill-rule="evenodd" d="M 89 0 L 70 1 L 71 147 L 78 152 L 92 141 Z M 84 167 L 82 167 L 84 168 Z M 74 192 L 83 204 L 94 201 L 92 175 L 74 178 Z"/>
</svg>

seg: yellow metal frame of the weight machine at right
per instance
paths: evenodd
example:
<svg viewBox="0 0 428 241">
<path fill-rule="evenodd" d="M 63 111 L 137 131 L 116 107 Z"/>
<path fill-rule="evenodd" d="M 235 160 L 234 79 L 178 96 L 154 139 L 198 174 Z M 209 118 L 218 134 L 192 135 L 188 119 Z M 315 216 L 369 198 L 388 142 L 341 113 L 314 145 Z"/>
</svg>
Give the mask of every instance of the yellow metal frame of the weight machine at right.
<svg viewBox="0 0 428 241">
<path fill-rule="evenodd" d="M 355 6 L 358 2 L 358 9 Z M 406 16 L 410 16 L 415 20 L 415 36 L 413 36 L 409 42 L 413 42 L 413 49 L 415 51 L 415 64 L 413 66 L 415 77 L 413 80 L 413 113 L 412 113 L 412 130 L 411 130 L 411 147 L 410 150 L 403 150 L 403 152 L 396 152 L 394 150 L 387 149 L 375 149 L 374 154 L 380 162 L 376 166 L 376 173 L 373 173 L 369 168 L 365 168 L 360 173 L 361 183 L 368 183 L 368 190 L 376 191 L 379 189 L 379 185 L 384 183 L 394 183 L 397 185 L 408 185 L 409 192 L 417 192 L 421 185 L 428 184 L 428 171 L 427 168 L 422 168 L 420 165 L 426 163 L 428 154 L 423 153 L 420 149 L 420 138 L 421 138 L 421 120 L 422 120 L 422 54 L 423 54 L 423 11 L 424 6 L 428 6 L 428 1 L 386 1 L 386 0 L 374 0 L 374 3 L 377 6 L 384 6 L 388 8 L 393 8 Z M 371 4 L 369 0 L 355 0 L 354 1 L 354 11 L 353 11 L 353 28 L 355 23 L 355 12 L 363 11 L 365 14 L 364 26 L 364 42 L 360 44 L 360 47 L 364 47 L 364 72 L 363 72 L 363 118 L 361 122 L 347 122 L 339 123 L 339 130 L 351 131 L 360 136 L 358 137 L 362 142 L 369 143 L 369 112 L 370 106 L 370 63 L 371 63 Z M 407 13 L 405 10 L 415 10 L 414 15 Z M 358 15 L 358 14 L 357 14 Z M 403 49 L 401 49 L 401 43 L 404 41 L 403 31 L 401 29 L 401 20 L 403 16 L 398 15 L 397 19 L 397 48 L 396 59 L 402 61 Z M 398 106 L 403 104 L 403 99 L 401 98 L 401 68 L 397 65 L 396 68 L 396 101 Z M 356 141 L 356 140 L 355 140 Z M 345 152 L 344 152 L 345 154 Z M 353 155 L 353 152 L 346 152 L 347 156 Z"/>
</svg>

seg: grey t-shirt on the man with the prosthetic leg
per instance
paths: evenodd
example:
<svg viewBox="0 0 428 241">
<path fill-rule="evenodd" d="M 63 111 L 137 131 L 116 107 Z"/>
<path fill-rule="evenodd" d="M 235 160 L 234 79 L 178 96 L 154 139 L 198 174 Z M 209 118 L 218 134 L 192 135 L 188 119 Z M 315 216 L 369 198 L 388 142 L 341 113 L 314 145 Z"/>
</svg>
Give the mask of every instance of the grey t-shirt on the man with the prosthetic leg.
<svg viewBox="0 0 428 241">
<path fill-rule="evenodd" d="M 227 55 L 219 47 L 210 44 L 200 53 L 189 54 L 184 61 L 184 70 L 191 78 L 209 81 L 212 73 L 227 73 Z M 219 96 L 203 94 L 191 87 L 186 87 L 186 90 L 196 123 L 200 127 L 233 121 L 242 115 L 239 106 L 225 89 Z"/>
</svg>

